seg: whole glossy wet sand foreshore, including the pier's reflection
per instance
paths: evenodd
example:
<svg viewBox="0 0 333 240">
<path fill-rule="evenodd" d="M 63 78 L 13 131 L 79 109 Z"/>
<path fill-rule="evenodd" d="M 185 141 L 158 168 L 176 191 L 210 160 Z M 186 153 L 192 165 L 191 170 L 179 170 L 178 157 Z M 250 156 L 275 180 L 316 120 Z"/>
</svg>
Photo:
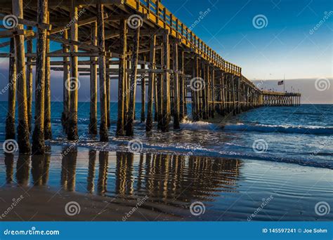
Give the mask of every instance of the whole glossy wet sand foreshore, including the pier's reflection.
<svg viewBox="0 0 333 240">
<path fill-rule="evenodd" d="M 4 156 L 4 155 L 3 155 Z M 0 221 L 327 221 L 333 171 L 296 164 L 53 147 L 0 158 Z M 80 211 L 68 215 L 66 204 Z M 75 210 L 75 209 L 74 209 Z"/>
</svg>

